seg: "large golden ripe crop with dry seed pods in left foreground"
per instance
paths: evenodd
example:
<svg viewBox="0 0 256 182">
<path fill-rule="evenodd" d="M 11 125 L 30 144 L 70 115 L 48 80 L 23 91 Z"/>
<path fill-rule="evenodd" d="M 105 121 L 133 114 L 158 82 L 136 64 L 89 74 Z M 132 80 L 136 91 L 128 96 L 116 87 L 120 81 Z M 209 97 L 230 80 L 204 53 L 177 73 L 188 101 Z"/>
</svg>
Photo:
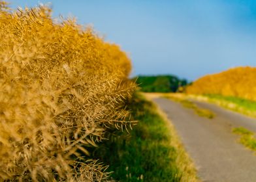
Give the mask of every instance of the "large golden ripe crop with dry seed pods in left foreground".
<svg viewBox="0 0 256 182">
<path fill-rule="evenodd" d="M 131 125 L 131 62 L 46 6 L 0 2 L 0 181 L 104 181 L 89 149 Z"/>
</svg>

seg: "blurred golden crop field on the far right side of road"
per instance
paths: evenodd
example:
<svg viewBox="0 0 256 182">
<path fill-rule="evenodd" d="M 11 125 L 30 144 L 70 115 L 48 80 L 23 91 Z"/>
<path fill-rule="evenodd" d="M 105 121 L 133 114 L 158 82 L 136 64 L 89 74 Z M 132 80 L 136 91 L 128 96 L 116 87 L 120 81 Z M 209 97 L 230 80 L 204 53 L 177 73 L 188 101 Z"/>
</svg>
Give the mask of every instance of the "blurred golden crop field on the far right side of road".
<svg viewBox="0 0 256 182">
<path fill-rule="evenodd" d="M 256 101 L 256 68 L 238 67 L 214 75 L 206 75 L 191 86 L 189 94 L 221 94 Z"/>
</svg>

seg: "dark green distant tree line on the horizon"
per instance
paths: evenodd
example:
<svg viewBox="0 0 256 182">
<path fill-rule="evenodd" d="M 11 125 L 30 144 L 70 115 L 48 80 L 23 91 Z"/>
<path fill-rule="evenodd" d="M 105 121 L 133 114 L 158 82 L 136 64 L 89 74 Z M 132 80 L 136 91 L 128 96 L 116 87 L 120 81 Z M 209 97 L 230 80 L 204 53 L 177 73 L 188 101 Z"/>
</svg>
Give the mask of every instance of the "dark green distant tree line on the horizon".
<svg viewBox="0 0 256 182">
<path fill-rule="evenodd" d="M 174 75 L 139 75 L 134 79 L 142 92 L 178 92 L 179 88 L 187 85 L 186 79 Z"/>
</svg>

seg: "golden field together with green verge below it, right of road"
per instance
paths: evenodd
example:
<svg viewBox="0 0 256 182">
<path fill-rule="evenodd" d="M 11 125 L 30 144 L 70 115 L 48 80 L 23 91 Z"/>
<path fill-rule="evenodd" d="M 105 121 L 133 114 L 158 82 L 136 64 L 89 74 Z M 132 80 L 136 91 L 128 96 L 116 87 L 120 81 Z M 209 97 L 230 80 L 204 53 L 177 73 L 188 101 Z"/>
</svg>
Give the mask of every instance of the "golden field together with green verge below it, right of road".
<svg viewBox="0 0 256 182">
<path fill-rule="evenodd" d="M 185 93 L 216 103 L 226 109 L 256 117 L 256 68 L 238 67 L 225 72 L 206 75 L 191 85 Z"/>
</svg>

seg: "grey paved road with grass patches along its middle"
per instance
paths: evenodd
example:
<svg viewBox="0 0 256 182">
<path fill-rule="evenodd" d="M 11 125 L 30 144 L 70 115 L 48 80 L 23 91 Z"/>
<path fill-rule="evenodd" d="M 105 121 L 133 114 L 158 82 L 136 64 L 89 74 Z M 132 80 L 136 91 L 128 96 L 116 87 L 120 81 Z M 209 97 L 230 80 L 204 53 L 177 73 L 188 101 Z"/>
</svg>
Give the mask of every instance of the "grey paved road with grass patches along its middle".
<svg viewBox="0 0 256 182">
<path fill-rule="evenodd" d="M 202 118 L 192 109 L 165 98 L 153 101 L 167 114 L 195 162 L 202 181 L 256 181 L 256 155 L 237 142 L 232 127 L 256 132 L 256 120 L 210 103 L 194 101 L 216 117 Z"/>
</svg>

